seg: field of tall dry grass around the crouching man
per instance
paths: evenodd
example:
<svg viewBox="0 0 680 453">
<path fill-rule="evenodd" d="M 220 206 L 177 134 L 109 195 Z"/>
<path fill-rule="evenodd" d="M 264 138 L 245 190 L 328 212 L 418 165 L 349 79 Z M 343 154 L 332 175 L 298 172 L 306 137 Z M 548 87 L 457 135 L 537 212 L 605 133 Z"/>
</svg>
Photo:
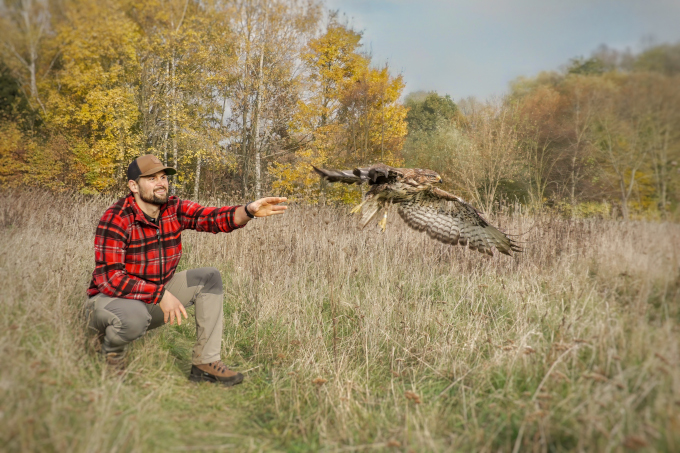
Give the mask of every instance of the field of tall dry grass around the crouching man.
<svg viewBox="0 0 680 453">
<path fill-rule="evenodd" d="M 225 281 L 246 380 L 221 388 L 187 380 L 193 322 L 135 342 L 124 378 L 93 351 L 111 202 L 0 200 L 2 451 L 680 450 L 680 225 L 499 215 L 513 258 L 348 208 L 186 232 L 180 270 Z"/>
</svg>

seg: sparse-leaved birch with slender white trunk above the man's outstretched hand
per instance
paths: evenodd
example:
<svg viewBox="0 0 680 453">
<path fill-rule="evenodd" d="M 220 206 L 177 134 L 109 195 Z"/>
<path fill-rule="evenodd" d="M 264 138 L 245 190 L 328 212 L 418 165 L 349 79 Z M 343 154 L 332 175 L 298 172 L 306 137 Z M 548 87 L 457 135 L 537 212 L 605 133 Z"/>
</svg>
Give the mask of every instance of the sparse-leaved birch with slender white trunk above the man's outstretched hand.
<svg viewBox="0 0 680 453">
<path fill-rule="evenodd" d="M 262 193 L 268 168 L 295 147 L 290 127 L 304 89 L 303 52 L 320 19 L 317 2 L 236 2 L 232 28 L 238 71 L 230 88 L 233 149 L 242 191 Z"/>
</svg>

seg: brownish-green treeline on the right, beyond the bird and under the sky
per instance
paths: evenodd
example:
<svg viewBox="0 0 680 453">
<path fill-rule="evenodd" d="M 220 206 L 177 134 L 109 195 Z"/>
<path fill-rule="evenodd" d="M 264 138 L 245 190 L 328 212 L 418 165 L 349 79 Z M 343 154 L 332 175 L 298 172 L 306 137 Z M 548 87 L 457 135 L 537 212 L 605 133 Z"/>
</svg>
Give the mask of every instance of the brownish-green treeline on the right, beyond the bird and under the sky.
<svg viewBox="0 0 680 453">
<path fill-rule="evenodd" d="M 407 97 L 407 165 L 439 169 L 490 211 L 669 218 L 680 201 L 680 44 L 602 47 L 492 102 Z"/>
</svg>

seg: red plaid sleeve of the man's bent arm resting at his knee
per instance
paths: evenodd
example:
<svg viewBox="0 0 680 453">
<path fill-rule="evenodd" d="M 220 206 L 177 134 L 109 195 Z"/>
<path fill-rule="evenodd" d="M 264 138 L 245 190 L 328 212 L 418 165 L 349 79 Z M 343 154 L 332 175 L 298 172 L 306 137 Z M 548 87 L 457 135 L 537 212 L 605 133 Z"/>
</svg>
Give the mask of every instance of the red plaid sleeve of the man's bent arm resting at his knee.
<svg viewBox="0 0 680 453">
<path fill-rule="evenodd" d="M 159 303 L 165 292 L 164 285 L 129 275 L 125 271 L 126 248 L 126 220 L 117 215 L 115 209 L 109 209 L 99 221 L 95 234 L 93 283 L 100 293 L 109 297 Z"/>
</svg>

